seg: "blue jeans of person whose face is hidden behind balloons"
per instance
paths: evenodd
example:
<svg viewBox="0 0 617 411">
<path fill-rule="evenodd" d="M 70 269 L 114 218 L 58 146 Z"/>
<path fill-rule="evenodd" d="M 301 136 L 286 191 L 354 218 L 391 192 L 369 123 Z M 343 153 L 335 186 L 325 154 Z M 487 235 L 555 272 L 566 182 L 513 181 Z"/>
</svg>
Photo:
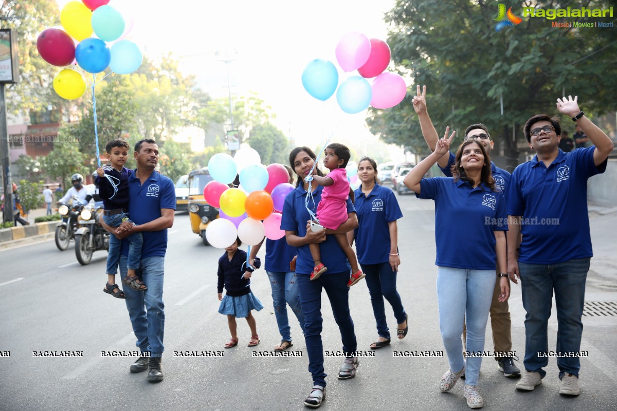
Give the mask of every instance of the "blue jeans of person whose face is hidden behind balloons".
<svg viewBox="0 0 617 411">
<path fill-rule="evenodd" d="M 270 287 L 272 288 L 272 303 L 276 324 L 281 337 L 285 341 L 291 341 L 289 319 L 287 317 L 287 306 L 296 314 L 300 328 L 304 333 L 304 313 L 300 306 L 300 290 L 298 288 L 297 276 L 295 272 L 273 272 L 267 271 Z"/>
</svg>

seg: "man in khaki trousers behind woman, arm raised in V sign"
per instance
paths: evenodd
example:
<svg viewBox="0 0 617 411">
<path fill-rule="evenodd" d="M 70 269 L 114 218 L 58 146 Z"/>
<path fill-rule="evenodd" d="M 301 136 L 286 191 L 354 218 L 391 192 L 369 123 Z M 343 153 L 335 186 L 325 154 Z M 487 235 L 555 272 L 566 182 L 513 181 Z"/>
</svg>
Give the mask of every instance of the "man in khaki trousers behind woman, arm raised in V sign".
<svg viewBox="0 0 617 411">
<path fill-rule="evenodd" d="M 418 114 L 418 120 L 420 120 L 420 128 L 422 129 L 422 135 L 429 149 L 435 150 L 437 140 L 439 136 L 433 126 L 433 122 L 426 110 L 426 86 L 422 87 L 420 92 L 420 85 L 416 86 L 416 96 L 413 97 L 413 108 Z M 484 146 L 487 155 L 491 156 L 491 150 L 494 147 L 494 142 L 491 140 L 491 135 L 484 124 L 471 124 L 465 130 L 465 140 L 476 139 Z M 437 165 L 447 177 L 452 177 L 452 171 L 450 167 L 455 163 L 455 156 L 452 152 L 449 155 L 442 156 Z M 491 161 L 491 173 L 495 180 L 495 186 L 498 187 L 505 194 L 506 187 L 510 181 L 510 173 L 495 166 L 495 163 Z M 507 197 L 506 197 L 507 198 Z M 491 301 L 491 329 L 493 337 L 493 348 L 495 352 L 495 360 L 497 361 L 497 369 L 503 372 L 503 375 L 508 377 L 516 377 L 521 374 L 521 371 L 516 367 L 514 359 L 512 357 L 512 334 L 511 334 L 511 320 L 508 302 L 501 303 L 499 301 L 499 295 L 501 290 L 499 288 L 499 281 L 495 282 L 495 289 L 493 292 L 493 298 Z M 463 324 L 465 327 L 465 324 Z M 463 338 L 466 336 L 466 330 L 463 328 Z"/>
</svg>

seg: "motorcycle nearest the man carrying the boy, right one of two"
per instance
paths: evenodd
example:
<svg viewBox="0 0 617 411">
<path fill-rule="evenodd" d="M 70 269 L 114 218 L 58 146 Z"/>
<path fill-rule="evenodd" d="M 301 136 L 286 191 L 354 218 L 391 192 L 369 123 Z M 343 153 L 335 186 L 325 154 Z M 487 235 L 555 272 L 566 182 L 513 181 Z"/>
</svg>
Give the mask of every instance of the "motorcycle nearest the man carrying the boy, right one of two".
<svg viewBox="0 0 617 411">
<path fill-rule="evenodd" d="M 101 209 L 86 205 L 81 211 L 75 232 L 75 256 L 82 266 L 89 264 L 92 253 L 109 250 L 109 232 L 101 225 Z"/>
</svg>

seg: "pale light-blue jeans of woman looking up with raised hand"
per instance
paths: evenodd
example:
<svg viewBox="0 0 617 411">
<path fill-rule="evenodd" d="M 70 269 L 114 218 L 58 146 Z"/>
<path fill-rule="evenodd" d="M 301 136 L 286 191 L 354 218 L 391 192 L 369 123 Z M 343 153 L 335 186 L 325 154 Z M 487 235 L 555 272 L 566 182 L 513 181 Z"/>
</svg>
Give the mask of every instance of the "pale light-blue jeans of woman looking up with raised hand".
<svg viewBox="0 0 617 411">
<path fill-rule="evenodd" d="M 467 270 L 437 267 L 439 330 L 450 370 L 463 369 L 463 321 L 467 327 L 466 350 L 484 351 L 484 334 L 489 318 L 497 274 L 495 270 Z M 466 385 L 478 385 L 481 356 L 467 356 Z"/>
</svg>

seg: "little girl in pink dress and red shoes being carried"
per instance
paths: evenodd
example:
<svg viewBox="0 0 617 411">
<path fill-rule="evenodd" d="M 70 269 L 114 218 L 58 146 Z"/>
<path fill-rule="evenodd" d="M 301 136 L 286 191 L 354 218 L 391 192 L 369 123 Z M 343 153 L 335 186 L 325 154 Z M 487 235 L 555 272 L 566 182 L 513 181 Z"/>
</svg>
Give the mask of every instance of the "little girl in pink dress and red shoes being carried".
<svg viewBox="0 0 617 411">
<path fill-rule="evenodd" d="M 323 165 L 330 172 L 325 177 L 317 176 L 317 174 L 312 176 L 313 180 L 323 185 L 321 201 L 317 206 L 317 219 L 321 226 L 326 227 L 326 229 L 336 230 L 343 222 L 347 221 L 346 201 L 350 190 L 345 167 L 351 157 L 351 153 L 345 145 L 333 143 L 326 147 L 324 154 Z M 351 287 L 362 280 L 364 274 L 358 269 L 358 259 L 349 245 L 347 234 L 334 234 L 334 236 L 351 265 L 352 275 L 347 283 L 347 287 Z M 315 261 L 315 268 L 313 269 L 313 274 L 310 275 L 310 279 L 317 280 L 321 273 L 328 270 L 328 268 L 321 262 L 319 245 L 317 243 L 310 243 L 309 248 L 313 261 Z"/>
</svg>

